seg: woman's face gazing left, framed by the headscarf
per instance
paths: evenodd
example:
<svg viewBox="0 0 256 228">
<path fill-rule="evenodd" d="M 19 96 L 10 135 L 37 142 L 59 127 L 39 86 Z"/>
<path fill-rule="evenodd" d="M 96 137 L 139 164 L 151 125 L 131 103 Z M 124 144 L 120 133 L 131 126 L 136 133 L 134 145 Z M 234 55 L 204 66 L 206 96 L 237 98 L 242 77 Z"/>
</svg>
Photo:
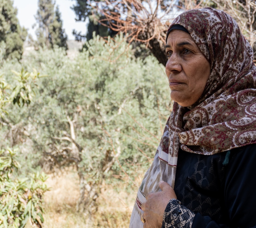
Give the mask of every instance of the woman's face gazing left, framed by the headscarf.
<svg viewBox="0 0 256 228">
<path fill-rule="evenodd" d="M 181 106 L 190 106 L 204 91 L 211 73 L 210 63 L 192 37 L 182 30 L 169 33 L 165 51 L 171 98 Z"/>
</svg>

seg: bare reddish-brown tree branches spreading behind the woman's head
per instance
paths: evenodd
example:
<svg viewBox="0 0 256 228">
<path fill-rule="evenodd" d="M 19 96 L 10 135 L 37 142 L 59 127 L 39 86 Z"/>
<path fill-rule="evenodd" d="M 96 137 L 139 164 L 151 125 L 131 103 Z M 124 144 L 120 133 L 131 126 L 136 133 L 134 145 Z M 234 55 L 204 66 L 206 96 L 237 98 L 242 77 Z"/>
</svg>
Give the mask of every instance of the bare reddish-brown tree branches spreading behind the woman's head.
<svg viewBox="0 0 256 228">
<path fill-rule="evenodd" d="M 165 65 L 167 60 L 164 46 L 168 26 L 181 12 L 203 7 L 214 7 L 229 13 L 256 51 L 253 38 L 256 31 L 256 4 L 250 0 L 76 0 L 73 9 L 77 14 L 77 20 L 94 18 L 97 21 L 94 22 L 95 25 L 98 23 L 107 26 L 109 31 L 123 32 L 130 37 L 129 42 L 145 43 L 158 61 Z M 89 34 L 90 27 L 89 23 Z"/>
</svg>

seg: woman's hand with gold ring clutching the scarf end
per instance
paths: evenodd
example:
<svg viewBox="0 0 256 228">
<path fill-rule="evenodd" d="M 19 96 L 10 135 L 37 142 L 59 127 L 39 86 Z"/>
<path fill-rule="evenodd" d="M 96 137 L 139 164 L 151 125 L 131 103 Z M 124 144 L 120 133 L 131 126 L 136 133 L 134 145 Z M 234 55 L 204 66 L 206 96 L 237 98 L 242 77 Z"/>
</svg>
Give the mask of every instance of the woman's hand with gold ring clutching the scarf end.
<svg viewBox="0 0 256 228">
<path fill-rule="evenodd" d="M 163 223 L 164 210 L 170 199 L 177 199 L 173 188 L 164 181 L 159 182 L 162 191 L 156 193 L 148 193 L 146 202 L 141 204 L 144 211 L 143 218 L 146 220 L 144 228 L 161 228 Z"/>
</svg>

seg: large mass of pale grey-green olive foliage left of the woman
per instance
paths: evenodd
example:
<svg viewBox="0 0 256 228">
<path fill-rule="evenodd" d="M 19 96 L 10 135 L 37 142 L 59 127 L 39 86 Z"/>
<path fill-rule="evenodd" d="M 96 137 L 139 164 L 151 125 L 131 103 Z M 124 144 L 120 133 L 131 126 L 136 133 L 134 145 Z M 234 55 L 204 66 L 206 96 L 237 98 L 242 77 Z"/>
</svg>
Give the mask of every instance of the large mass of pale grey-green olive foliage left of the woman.
<svg viewBox="0 0 256 228">
<path fill-rule="evenodd" d="M 145 168 L 151 161 L 171 109 L 164 68 L 154 57 L 134 58 L 122 36 L 108 41 L 94 36 L 86 45 L 74 61 L 58 48 L 29 58 L 28 67 L 49 75 L 26 116 L 36 129 L 34 146 L 59 163 L 73 157 L 70 142 L 60 140 L 70 134 L 69 117 L 88 181 L 101 178 L 115 154 L 112 171 L 104 175 L 124 177 L 125 171 L 134 178 L 135 164 Z"/>
</svg>

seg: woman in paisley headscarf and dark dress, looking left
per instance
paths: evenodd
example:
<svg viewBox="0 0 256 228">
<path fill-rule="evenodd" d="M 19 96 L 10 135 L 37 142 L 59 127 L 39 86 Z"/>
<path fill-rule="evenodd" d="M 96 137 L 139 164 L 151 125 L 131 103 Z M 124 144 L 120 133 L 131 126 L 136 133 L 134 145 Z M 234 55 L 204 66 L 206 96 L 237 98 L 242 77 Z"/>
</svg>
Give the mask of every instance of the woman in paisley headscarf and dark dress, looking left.
<svg viewBox="0 0 256 228">
<path fill-rule="evenodd" d="M 182 13 L 166 36 L 174 100 L 130 228 L 256 227 L 256 67 L 232 17 Z"/>
</svg>

